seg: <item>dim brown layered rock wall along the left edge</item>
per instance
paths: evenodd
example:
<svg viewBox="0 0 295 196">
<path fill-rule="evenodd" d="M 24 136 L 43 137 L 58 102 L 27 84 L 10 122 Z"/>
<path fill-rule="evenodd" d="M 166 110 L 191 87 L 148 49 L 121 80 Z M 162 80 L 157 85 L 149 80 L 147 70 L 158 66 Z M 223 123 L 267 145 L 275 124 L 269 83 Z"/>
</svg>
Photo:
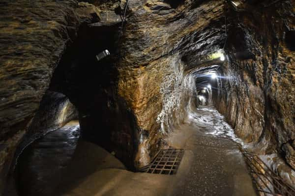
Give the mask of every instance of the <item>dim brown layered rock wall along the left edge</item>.
<svg viewBox="0 0 295 196">
<path fill-rule="evenodd" d="M 2 0 L 0 6 L 1 192 L 60 56 L 96 12 L 91 5 L 79 10 L 75 0 Z"/>
</svg>

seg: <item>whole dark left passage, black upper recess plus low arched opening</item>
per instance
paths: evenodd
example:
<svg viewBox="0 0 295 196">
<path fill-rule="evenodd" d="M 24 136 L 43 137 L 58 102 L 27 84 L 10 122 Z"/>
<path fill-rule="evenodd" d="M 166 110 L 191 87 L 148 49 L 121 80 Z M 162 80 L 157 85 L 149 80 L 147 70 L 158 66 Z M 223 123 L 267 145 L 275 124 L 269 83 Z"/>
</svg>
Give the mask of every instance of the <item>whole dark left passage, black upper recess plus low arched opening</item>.
<svg viewBox="0 0 295 196">
<path fill-rule="evenodd" d="M 71 162 L 80 135 L 134 169 L 135 118 L 116 89 L 118 33 L 117 25 L 85 24 L 68 44 L 31 124 L 30 129 L 37 132 L 28 134 L 33 143 L 22 151 L 14 170 L 9 189 L 15 183 L 19 196 L 52 194 L 60 183 L 56 179 L 62 179 L 60 168 Z M 110 55 L 98 60 L 105 50 Z M 66 124 L 74 119 L 79 122 Z"/>
</svg>

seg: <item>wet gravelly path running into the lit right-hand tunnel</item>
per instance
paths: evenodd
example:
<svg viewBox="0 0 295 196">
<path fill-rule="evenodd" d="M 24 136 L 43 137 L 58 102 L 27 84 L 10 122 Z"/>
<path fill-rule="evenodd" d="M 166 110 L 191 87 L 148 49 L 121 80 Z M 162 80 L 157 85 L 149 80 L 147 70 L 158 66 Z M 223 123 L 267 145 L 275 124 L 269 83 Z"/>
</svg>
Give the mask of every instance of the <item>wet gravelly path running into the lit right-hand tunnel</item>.
<svg viewBox="0 0 295 196">
<path fill-rule="evenodd" d="M 170 140 L 172 145 L 176 143 L 186 150 L 187 163 L 183 164 L 189 165 L 189 169 L 182 168 L 171 195 L 256 196 L 234 140 L 238 141 L 233 130 L 213 107 L 202 107 L 192 113 Z"/>
</svg>

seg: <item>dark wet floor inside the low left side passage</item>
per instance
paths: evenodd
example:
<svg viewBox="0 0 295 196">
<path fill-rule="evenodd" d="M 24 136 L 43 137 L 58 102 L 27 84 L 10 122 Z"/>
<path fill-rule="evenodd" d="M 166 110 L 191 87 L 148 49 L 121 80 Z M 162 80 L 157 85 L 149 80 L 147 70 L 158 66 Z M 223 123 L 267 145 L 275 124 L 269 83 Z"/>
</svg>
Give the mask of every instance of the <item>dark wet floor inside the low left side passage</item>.
<svg viewBox="0 0 295 196">
<path fill-rule="evenodd" d="M 19 196 L 53 196 L 62 180 L 80 135 L 78 121 L 71 121 L 30 144 L 16 167 Z"/>
</svg>

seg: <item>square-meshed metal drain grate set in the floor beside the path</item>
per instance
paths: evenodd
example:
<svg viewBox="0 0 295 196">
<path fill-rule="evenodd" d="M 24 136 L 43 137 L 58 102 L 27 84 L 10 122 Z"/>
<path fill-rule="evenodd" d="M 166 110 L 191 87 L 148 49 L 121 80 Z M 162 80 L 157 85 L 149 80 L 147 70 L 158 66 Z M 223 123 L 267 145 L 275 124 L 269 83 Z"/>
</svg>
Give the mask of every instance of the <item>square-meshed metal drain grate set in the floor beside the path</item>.
<svg viewBox="0 0 295 196">
<path fill-rule="evenodd" d="M 176 174 L 183 154 L 183 149 L 160 150 L 156 158 L 147 168 L 146 172 L 170 175 Z"/>
</svg>

